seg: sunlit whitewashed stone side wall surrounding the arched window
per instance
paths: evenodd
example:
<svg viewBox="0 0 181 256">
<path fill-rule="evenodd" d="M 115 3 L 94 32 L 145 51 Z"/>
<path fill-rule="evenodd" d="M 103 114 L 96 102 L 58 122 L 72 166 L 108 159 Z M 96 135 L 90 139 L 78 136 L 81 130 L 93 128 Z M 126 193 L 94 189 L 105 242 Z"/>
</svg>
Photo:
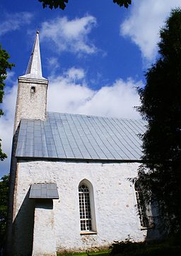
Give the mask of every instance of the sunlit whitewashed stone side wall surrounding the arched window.
<svg viewBox="0 0 181 256">
<path fill-rule="evenodd" d="M 25 211 L 26 206 L 33 204 L 28 202 L 31 200 L 25 201 L 31 184 L 55 182 L 59 192 L 59 200 L 53 201 L 54 239 L 57 251 L 93 250 L 107 247 L 115 240 L 125 240 L 128 237 L 136 241 L 144 240 L 146 230 L 141 230 L 135 206 L 134 185 L 128 180 L 136 177 L 138 167 L 138 163 L 101 164 L 21 160 L 18 162 L 16 219 L 21 226 L 27 226 L 28 218 L 32 218 L 27 212 L 18 219 L 22 205 Z M 93 185 L 97 227 L 97 234 L 93 235 L 80 235 L 78 184 L 83 179 L 88 179 Z M 15 227 L 15 233 L 16 230 L 18 226 Z M 27 243 L 28 246 L 28 240 L 25 238 L 23 243 Z M 18 247 L 22 248 L 21 245 L 22 236 L 16 233 L 17 252 Z M 23 250 L 21 249 L 19 255 L 27 255 Z"/>
</svg>

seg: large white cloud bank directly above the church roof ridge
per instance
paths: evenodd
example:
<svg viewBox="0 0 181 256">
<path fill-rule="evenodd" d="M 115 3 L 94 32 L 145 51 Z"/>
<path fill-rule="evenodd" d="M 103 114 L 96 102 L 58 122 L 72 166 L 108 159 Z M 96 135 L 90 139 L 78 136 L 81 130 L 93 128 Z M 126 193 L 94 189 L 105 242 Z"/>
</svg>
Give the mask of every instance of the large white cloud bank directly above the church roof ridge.
<svg viewBox="0 0 181 256">
<path fill-rule="evenodd" d="M 141 85 L 141 82 L 135 83 L 132 79 L 127 82 L 117 79 L 114 84 L 94 91 L 87 87 L 83 69 L 71 68 L 62 76 L 49 77 L 48 109 L 57 112 L 140 118 L 134 106 L 139 105 L 136 87 Z"/>
</svg>

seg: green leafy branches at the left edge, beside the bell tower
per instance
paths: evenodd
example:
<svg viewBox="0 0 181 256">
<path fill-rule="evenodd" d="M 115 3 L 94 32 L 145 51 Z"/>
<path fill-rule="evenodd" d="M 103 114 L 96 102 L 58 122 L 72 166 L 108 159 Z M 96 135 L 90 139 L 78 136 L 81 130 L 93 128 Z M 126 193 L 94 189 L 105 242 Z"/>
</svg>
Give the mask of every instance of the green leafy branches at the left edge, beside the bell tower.
<svg viewBox="0 0 181 256">
<path fill-rule="evenodd" d="M 6 50 L 1 49 L 0 45 L 0 103 L 3 102 L 3 96 L 4 96 L 4 80 L 7 77 L 7 69 L 11 69 L 14 65 L 12 63 L 8 62 L 8 52 Z M 3 111 L 0 108 L 0 117 L 3 115 Z M 1 150 L 1 139 L 0 139 L 0 160 L 4 160 L 6 158 L 6 154 L 2 152 Z"/>
</svg>

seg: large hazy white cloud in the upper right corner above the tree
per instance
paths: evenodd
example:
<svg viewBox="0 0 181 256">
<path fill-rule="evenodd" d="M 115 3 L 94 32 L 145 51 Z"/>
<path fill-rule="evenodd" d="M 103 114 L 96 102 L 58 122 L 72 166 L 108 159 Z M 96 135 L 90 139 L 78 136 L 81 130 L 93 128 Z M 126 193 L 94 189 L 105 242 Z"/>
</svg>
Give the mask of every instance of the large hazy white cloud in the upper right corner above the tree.
<svg viewBox="0 0 181 256">
<path fill-rule="evenodd" d="M 144 59 L 154 60 L 160 28 L 176 6 L 180 6 L 180 0 L 133 1 L 129 18 L 120 26 L 121 35 L 130 37 L 139 46 Z"/>
</svg>

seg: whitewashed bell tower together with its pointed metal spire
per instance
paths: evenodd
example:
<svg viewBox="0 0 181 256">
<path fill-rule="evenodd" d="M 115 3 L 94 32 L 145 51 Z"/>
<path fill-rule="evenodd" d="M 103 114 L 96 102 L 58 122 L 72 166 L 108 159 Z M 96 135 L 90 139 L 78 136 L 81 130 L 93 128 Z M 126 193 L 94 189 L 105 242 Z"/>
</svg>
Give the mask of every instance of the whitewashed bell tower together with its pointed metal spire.
<svg viewBox="0 0 181 256">
<path fill-rule="evenodd" d="M 14 133 L 22 118 L 45 120 L 48 80 L 42 77 L 39 32 L 25 74 L 18 77 Z"/>
</svg>

